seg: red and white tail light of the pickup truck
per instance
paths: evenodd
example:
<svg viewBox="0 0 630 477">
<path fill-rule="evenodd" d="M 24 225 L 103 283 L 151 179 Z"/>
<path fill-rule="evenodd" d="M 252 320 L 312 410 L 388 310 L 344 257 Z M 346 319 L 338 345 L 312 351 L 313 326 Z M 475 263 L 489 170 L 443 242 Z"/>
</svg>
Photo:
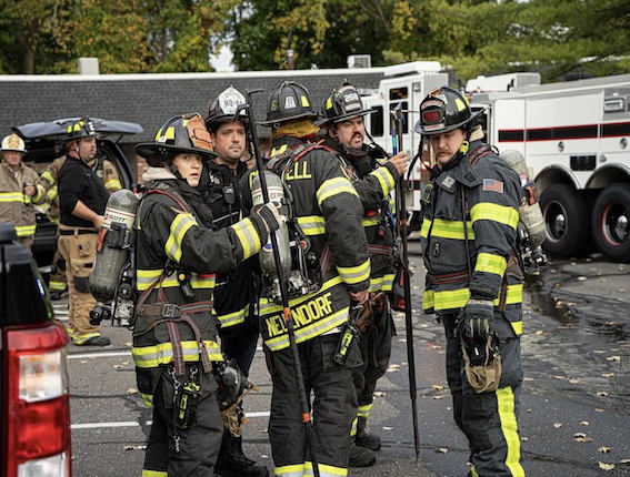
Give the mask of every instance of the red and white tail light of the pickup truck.
<svg viewBox="0 0 630 477">
<path fill-rule="evenodd" d="M 4 331 L 8 477 L 71 475 L 68 336 L 59 323 Z"/>
</svg>

